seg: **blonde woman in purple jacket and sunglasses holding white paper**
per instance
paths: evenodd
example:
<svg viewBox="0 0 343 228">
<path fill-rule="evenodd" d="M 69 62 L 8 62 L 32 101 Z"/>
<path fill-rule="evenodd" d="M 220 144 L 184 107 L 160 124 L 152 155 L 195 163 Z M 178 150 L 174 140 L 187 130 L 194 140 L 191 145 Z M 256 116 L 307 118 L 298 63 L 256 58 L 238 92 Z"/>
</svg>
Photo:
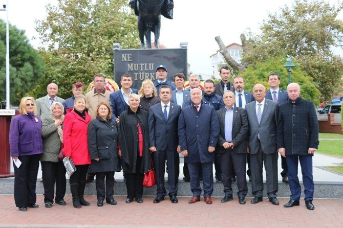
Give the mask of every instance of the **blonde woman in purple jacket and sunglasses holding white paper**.
<svg viewBox="0 0 343 228">
<path fill-rule="evenodd" d="M 14 167 L 14 201 L 20 211 L 38 208 L 36 181 L 40 154 L 43 153 L 41 121 L 35 115 L 32 97 L 20 100 L 20 115 L 14 117 L 10 127 L 11 157 Z M 19 161 L 20 166 L 17 167 Z M 13 162 L 14 163 L 14 162 Z"/>
</svg>

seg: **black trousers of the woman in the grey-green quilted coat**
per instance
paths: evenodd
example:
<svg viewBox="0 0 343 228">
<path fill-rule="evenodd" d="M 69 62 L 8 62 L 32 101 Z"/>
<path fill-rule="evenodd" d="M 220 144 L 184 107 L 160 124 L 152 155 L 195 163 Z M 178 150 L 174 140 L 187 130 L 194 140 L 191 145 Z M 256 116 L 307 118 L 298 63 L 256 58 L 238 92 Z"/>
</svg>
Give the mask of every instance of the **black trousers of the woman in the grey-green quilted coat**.
<svg viewBox="0 0 343 228">
<path fill-rule="evenodd" d="M 54 202 L 54 188 L 56 182 L 55 202 L 63 200 L 66 194 L 66 168 L 62 162 L 40 162 L 43 185 L 44 202 Z"/>
</svg>

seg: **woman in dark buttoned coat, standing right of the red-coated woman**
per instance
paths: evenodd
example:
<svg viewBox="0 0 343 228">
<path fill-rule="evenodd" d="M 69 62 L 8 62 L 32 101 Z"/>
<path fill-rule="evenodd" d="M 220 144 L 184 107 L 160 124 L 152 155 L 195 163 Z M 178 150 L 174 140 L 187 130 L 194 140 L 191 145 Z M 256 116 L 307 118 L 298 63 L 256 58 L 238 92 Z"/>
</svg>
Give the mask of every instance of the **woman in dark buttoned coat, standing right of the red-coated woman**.
<svg viewBox="0 0 343 228">
<path fill-rule="evenodd" d="M 96 119 L 88 126 L 88 150 L 92 165 L 90 172 L 96 173 L 96 195 L 98 207 L 106 203 L 116 205 L 114 194 L 114 172 L 118 169 L 118 129 L 111 119 L 112 111 L 105 102 L 100 102 L 96 109 Z M 106 191 L 105 191 L 106 177 Z"/>
</svg>

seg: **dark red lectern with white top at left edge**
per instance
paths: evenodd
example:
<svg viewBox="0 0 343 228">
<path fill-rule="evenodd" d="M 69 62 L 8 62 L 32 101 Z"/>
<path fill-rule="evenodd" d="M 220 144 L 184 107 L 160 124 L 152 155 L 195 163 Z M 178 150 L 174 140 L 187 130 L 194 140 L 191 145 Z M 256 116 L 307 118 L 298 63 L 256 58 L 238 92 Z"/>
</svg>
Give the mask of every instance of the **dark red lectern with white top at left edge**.
<svg viewBox="0 0 343 228">
<path fill-rule="evenodd" d="M 0 109 L 0 178 L 13 177 L 11 173 L 11 151 L 9 143 L 10 124 L 14 109 Z"/>
</svg>

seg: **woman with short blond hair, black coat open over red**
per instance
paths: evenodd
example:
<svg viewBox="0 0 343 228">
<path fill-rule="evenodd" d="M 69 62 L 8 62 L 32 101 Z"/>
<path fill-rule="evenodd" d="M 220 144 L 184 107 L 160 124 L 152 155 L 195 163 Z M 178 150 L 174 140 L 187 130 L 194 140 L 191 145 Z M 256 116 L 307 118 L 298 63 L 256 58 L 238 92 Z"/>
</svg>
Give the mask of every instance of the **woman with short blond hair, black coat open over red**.
<svg viewBox="0 0 343 228">
<path fill-rule="evenodd" d="M 139 108 L 140 97 L 131 94 L 129 108 L 120 115 L 119 143 L 122 168 L 126 177 L 127 199 L 143 202 L 143 176 L 151 169 L 149 152 L 148 114 Z"/>
</svg>

